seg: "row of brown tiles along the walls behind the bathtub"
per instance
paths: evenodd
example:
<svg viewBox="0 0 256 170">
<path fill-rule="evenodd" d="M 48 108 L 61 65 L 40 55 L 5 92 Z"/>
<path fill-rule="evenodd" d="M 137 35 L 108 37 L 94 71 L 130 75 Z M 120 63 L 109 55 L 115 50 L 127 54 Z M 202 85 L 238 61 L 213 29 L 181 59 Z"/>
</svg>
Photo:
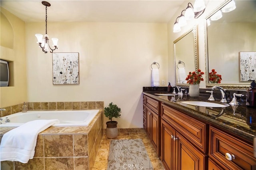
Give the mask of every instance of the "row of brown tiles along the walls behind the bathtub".
<svg viewBox="0 0 256 170">
<path fill-rule="evenodd" d="M 25 102 L 28 110 L 92 110 L 104 109 L 104 102 Z M 23 103 L 4 107 L 0 117 L 22 111 Z"/>
</svg>

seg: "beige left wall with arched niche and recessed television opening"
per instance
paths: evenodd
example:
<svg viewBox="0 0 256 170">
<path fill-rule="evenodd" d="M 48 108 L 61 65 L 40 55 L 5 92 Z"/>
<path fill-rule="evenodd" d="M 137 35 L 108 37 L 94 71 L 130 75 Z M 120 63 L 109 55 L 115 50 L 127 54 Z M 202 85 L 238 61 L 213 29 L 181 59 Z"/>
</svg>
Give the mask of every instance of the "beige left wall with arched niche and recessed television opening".
<svg viewBox="0 0 256 170">
<path fill-rule="evenodd" d="M 25 22 L 1 8 L 1 56 L 10 63 L 10 87 L 0 87 L 0 108 L 26 102 Z M 5 28 L 6 32 L 2 32 Z M 5 34 L 6 35 L 6 34 Z M 7 39 L 8 38 L 8 39 Z"/>
</svg>

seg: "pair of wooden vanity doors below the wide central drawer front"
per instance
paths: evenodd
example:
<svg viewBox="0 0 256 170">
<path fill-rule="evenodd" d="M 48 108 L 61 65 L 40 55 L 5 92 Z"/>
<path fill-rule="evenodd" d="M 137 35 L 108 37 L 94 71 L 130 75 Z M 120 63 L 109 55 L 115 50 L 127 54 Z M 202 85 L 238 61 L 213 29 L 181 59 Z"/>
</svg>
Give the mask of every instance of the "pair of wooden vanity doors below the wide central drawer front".
<svg viewBox="0 0 256 170">
<path fill-rule="evenodd" d="M 178 129 L 162 119 L 161 161 L 166 170 L 206 169 L 206 154 L 193 146 L 186 137 Z"/>
</svg>

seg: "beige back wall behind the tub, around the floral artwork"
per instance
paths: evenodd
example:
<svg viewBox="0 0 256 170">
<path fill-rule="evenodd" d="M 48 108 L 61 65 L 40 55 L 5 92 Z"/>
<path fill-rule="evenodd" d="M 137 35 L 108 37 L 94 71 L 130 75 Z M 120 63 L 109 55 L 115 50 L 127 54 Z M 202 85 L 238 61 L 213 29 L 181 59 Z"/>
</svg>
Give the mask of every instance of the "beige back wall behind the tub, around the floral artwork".
<svg viewBox="0 0 256 170">
<path fill-rule="evenodd" d="M 78 85 L 52 84 L 52 54 L 34 36 L 44 27 L 26 23 L 28 102 L 114 102 L 122 110 L 119 128 L 142 128 L 142 87 L 151 86 L 152 62 L 167 82 L 167 24 L 48 22 L 50 38 L 59 38 L 54 52 L 79 52 Z"/>
</svg>

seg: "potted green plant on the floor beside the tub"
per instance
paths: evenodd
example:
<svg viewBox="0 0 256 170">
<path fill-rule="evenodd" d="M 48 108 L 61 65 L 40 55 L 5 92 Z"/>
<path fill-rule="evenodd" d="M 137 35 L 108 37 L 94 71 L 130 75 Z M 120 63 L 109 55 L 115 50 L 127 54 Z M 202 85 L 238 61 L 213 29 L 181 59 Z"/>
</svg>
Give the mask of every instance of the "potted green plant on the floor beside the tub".
<svg viewBox="0 0 256 170">
<path fill-rule="evenodd" d="M 117 121 L 112 121 L 112 118 L 120 118 L 121 109 L 111 102 L 108 107 L 104 108 L 105 116 L 110 120 L 106 122 L 106 136 L 107 138 L 116 138 L 118 136 Z"/>
</svg>

